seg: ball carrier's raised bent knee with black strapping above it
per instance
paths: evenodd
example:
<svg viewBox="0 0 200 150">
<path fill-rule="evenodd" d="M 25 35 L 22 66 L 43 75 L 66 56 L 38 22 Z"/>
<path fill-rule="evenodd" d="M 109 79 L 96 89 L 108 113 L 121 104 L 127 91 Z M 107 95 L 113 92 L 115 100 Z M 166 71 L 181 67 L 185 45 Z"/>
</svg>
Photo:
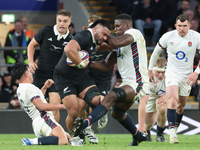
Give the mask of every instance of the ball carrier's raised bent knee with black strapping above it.
<svg viewBox="0 0 200 150">
<path fill-rule="evenodd" d="M 90 106 L 94 107 L 100 103 L 100 93 L 96 86 L 91 87 L 85 93 L 83 100 Z"/>
</svg>

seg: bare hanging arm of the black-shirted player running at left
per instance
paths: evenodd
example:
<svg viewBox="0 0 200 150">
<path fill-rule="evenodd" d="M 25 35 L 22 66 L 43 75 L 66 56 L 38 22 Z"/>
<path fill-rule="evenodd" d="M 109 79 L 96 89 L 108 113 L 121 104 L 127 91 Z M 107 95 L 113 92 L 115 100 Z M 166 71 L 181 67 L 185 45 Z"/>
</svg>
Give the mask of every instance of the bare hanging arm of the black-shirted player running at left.
<svg viewBox="0 0 200 150">
<path fill-rule="evenodd" d="M 35 47 L 37 46 L 39 46 L 39 43 L 37 43 L 33 38 L 27 48 L 27 56 L 31 73 L 35 73 L 36 68 L 38 68 L 37 64 L 34 62 Z"/>
</svg>

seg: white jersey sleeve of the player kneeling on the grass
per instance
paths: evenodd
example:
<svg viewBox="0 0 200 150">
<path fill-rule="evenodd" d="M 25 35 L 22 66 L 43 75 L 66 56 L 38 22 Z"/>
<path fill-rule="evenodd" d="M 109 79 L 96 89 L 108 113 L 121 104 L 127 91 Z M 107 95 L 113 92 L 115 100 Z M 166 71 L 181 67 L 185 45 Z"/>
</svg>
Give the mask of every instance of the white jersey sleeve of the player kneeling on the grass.
<svg viewBox="0 0 200 150">
<path fill-rule="evenodd" d="M 25 97 L 27 101 L 30 100 L 32 102 L 34 99 L 40 98 L 39 95 L 40 93 L 38 93 L 38 90 L 34 85 L 31 85 L 26 89 Z"/>
</svg>

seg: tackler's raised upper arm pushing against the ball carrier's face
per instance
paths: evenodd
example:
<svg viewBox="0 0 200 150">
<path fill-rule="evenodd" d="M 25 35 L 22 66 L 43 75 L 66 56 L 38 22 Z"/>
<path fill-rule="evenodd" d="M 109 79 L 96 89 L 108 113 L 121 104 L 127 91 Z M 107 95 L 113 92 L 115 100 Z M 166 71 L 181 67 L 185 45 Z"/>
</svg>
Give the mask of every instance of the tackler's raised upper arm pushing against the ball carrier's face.
<svg viewBox="0 0 200 150">
<path fill-rule="evenodd" d="M 124 34 L 122 36 L 117 36 L 117 37 L 109 35 L 106 41 L 106 43 L 113 48 L 123 47 L 133 42 L 134 42 L 133 36 L 131 36 L 130 34 Z"/>
</svg>

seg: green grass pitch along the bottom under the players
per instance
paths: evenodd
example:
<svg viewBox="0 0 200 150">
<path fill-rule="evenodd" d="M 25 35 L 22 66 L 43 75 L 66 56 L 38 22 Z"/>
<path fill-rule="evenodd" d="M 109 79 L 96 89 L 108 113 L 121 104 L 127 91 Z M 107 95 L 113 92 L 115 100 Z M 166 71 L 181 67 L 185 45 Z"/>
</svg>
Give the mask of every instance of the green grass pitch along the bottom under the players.
<svg viewBox="0 0 200 150">
<path fill-rule="evenodd" d="M 21 138 L 35 138 L 34 134 L 0 134 L 1 150 L 200 150 L 200 134 L 198 135 L 178 135 L 179 144 L 170 144 L 169 135 L 165 135 L 166 143 L 156 142 L 155 135 L 152 135 L 153 142 L 142 142 L 138 146 L 128 146 L 132 141 L 130 134 L 96 134 L 99 143 L 90 144 L 86 139 L 86 144 L 80 147 L 57 146 L 57 145 L 34 145 L 22 146 Z"/>
</svg>

